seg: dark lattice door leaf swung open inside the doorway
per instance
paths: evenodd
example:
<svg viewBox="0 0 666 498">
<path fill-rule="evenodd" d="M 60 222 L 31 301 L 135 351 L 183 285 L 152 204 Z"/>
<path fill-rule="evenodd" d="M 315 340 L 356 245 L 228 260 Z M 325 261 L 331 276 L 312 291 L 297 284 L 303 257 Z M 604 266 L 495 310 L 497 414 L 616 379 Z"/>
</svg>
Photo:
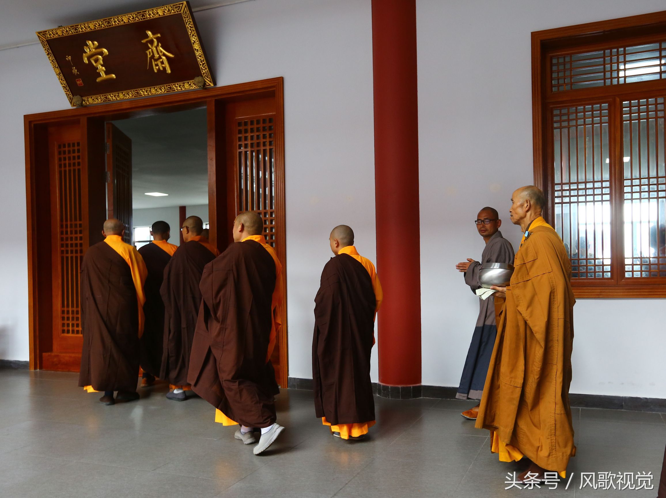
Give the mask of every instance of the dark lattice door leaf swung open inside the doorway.
<svg viewBox="0 0 666 498">
<path fill-rule="evenodd" d="M 107 208 L 125 224 L 123 240 L 132 244 L 132 140 L 107 123 Z"/>
</svg>

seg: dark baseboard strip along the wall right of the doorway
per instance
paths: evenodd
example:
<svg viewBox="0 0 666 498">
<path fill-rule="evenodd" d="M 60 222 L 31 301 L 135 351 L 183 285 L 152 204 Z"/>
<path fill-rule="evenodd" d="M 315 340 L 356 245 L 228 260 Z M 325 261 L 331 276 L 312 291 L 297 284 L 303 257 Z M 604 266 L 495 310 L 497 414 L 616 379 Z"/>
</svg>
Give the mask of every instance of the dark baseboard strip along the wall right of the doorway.
<svg viewBox="0 0 666 498">
<path fill-rule="evenodd" d="M 27 363 L 27 362 L 26 362 Z M 0 363 L 1 366 L 1 363 Z M 312 390 L 312 379 L 289 377 L 289 389 Z M 372 383 L 372 393 L 390 399 L 456 399 L 458 388 L 442 385 L 382 385 Z M 606 396 L 597 394 L 569 393 L 569 402 L 577 408 L 605 408 L 631 411 L 657 411 L 666 413 L 666 399 L 658 397 Z"/>
</svg>

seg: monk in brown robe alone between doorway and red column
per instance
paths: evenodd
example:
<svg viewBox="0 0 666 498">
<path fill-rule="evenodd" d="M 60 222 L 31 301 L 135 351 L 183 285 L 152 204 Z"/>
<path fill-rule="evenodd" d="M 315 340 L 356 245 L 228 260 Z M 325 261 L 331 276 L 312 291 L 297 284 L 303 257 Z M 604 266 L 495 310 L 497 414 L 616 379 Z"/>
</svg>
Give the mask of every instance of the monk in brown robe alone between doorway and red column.
<svg viewBox="0 0 666 498">
<path fill-rule="evenodd" d="M 363 439 L 375 425 L 370 381 L 374 318 L 384 294 L 370 260 L 354 247 L 354 231 L 336 226 L 335 254 L 314 298 L 312 379 L 316 416 L 342 439 Z"/>
</svg>

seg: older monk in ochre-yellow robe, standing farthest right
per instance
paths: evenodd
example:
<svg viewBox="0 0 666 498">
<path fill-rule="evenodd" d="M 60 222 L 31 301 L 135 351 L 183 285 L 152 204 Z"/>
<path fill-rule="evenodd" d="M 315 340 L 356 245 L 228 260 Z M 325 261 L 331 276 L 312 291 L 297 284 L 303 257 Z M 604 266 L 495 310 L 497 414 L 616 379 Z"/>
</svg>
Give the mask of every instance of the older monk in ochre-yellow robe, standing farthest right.
<svg viewBox="0 0 666 498">
<path fill-rule="evenodd" d="M 490 429 L 500 461 L 531 461 L 517 481 L 565 477 L 575 455 L 569 407 L 573 347 L 571 263 L 557 232 L 541 216 L 543 192 L 513 192 L 509 215 L 523 239 L 507 287 L 498 291 L 498 334 L 476 427 Z M 503 303 L 502 303 L 503 302 Z"/>
</svg>

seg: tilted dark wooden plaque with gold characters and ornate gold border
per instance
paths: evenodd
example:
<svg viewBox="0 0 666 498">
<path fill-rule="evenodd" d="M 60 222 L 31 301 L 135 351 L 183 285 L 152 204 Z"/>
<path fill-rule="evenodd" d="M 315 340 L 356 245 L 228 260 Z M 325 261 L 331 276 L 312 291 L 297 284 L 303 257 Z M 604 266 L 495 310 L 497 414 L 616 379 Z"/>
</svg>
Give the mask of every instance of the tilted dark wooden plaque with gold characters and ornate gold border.
<svg viewBox="0 0 666 498">
<path fill-rule="evenodd" d="M 186 1 L 37 37 L 72 107 L 215 85 Z"/>
</svg>

